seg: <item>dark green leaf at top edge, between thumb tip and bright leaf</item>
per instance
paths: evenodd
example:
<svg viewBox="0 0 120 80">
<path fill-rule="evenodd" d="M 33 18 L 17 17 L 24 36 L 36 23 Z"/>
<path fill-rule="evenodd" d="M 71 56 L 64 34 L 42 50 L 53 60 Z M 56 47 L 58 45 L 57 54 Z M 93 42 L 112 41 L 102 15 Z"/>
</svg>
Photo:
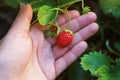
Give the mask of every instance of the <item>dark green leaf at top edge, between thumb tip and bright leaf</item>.
<svg viewBox="0 0 120 80">
<path fill-rule="evenodd" d="M 40 7 L 47 5 L 47 6 L 52 6 L 56 7 L 57 3 L 54 0 L 36 0 L 31 2 L 33 11 L 38 11 Z"/>
</svg>

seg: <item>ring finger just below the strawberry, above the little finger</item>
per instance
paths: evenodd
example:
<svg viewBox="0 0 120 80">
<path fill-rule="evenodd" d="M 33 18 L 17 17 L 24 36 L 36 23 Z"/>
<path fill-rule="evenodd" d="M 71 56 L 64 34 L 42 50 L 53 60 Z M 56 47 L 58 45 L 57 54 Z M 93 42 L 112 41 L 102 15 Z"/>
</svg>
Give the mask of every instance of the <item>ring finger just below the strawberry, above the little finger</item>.
<svg viewBox="0 0 120 80">
<path fill-rule="evenodd" d="M 81 41 L 88 39 L 90 36 L 94 35 L 97 31 L 98 31 L 98 25 L 96 23 L 92 23 L 88 25 L 87 27 L 83 28 L 82 30 L 80 30 L 79 32 L 75 33 L 73 37 L 73 41 L 68 47 L 59 48 L 56 45 L 55 47 L 53 47 L 55 59 L 58 59 L 59 57 L 64 55 L 64 53 L 70 50 L 74 45 L 78 44 Z"/>
</svg>

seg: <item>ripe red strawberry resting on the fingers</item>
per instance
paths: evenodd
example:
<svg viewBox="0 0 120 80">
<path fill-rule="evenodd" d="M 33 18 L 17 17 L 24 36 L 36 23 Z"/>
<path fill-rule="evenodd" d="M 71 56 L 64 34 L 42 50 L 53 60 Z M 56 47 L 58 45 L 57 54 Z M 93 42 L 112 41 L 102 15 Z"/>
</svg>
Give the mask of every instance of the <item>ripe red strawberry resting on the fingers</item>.
<svg viewBox="0 0 120 80">
<path fill-rule="evenodd" d="M 72 42 L 72 39 L 73 33 L 69 30 L 64 30 L 58 34 L 56 44 L 57 46 L 64 48 Z"/>
</svg>

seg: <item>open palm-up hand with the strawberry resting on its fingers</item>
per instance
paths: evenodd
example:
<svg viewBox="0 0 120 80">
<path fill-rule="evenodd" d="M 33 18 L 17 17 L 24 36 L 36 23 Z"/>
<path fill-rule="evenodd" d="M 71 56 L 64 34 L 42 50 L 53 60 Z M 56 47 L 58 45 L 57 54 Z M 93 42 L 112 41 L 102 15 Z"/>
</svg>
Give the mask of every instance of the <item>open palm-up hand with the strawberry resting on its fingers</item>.
<svg viewBox="0 0 120 80">
<path fill-rule="evenodd" d="M 39 23 L 30 27 L 32 9 L 21 5 L 18 16 L 6 36 L 0 41 L 0 80 L 55 80 L 87 48 L 85 42 L 98 31 L 96 15 L 80 15 L 69 11 L 72 43 L 65 48 L 56 46 L 55 39 L 45 37 Z M 67 27 L 67 16 L 56 21 L 61 29 Z"/>
</svg>

